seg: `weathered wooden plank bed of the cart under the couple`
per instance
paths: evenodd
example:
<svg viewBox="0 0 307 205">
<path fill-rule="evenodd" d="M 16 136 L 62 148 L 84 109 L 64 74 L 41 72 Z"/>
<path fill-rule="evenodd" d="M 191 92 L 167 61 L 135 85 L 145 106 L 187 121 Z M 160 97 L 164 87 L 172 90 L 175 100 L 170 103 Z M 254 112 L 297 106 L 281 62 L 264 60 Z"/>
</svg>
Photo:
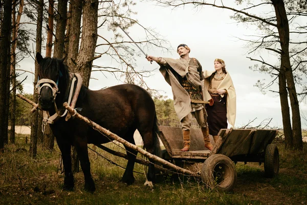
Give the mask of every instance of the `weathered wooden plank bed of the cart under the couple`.
<svg viewBox="0 0 307 205">
<path fill-rule="evenodd" d="M 201 129 L 191 129 L 189 152 L 181 152 L 183 147 L 182 128 L 159 126 L 159 136 L 171 158 L 207 159 L 212 154 L 224 154 L 228 157 L 236 155 L 253 155 L 262 152 L 271 144 L 277 130 L 256 129 L 221 129 L 220 139 L 214 144 L 210 135 L 213 150 L 205 148 Z"/>
</svg>

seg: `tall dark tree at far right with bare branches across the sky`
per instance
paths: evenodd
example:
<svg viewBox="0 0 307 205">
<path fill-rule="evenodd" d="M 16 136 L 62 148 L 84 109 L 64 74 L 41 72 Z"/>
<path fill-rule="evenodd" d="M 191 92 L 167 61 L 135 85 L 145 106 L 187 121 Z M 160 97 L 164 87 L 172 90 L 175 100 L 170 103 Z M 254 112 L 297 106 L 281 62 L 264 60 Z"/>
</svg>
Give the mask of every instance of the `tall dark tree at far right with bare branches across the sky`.
<svg viewBox="0 0 307 205">
<path fill-rule="evenodd" d="M 225 6 L 224 2 L 221 4 L 211 3 L 204 1 L 156 1 L 160 5 L 169 7 L 179 7 L 184 5 L 193 5 L 194 7 L 210 6 L 221 9 L 228 9 L 234 11 L 235 14 L 232 16 L 233 19 L 238 22 L 243 22 L 247 24 L 253 24 L 258 27 L 258 29 L 263 33 L 261 36 L 257 37 L 256 40 L 248 40 L 250 44 L 253 45 L 251 52 L 260 49 L 267 49 L 273 51 L 278 56 L 278 62 L 276 65 L 271 65 L 267 63 L 263 58 L 253 59 L 261 62 L 264 66 L 261 67 L 261 71 L 266 71 L 271 75 L 276 75 L 278 77 L 278 86 L 283 122 L 283 131 L 286 139 L 286 147 L 294 149 L 302 149 L 302 134 L 301 134 L 301 120 L 299 111 L 299 101 L 297 98 L 297 92 L 295 87 L 295 79 L 293 75 L 294 68 L 291 66 L 290 57 L 290 44 L 293 43 L 290 40 L 290 29 L 289 24 L 295 23 L 295 18 L 298 16 L 307 16 L 306 10 L 302 12 L 303 8 L 306 8 L 306 2 L 302 0 L 271 0 L 271 1 L 258 1 L 250 2 L 244 0 L 234 1 L 237 7 L 232 8 Z M 229 3 L 229 2 L 227 2 Z M 287 3 L 285 6 L 284 3 Z M 274 15 L 267 12 L 264 16 L 259 14 L 253 14 L 255 9 L 262 10 L 260 8 L 265 7 L 274 9 Z M 297 9 L 297 11 L 293 11 Z M 290 19 L 288 19 L 290 17 Z M 306 22 L 306 21 L 305 21 Z M 305 27 L 296 27 L 297 33 L 301 32 L 301 29 Z M 306 48 L 301 49 L 301 52 L 306 50 Z M 250 52 L 250 53 L 251 53 Z M 292 56 L 293 57 L 293 56 Z M 301 63 L 299 63 L 301 64 Z M 277 73 L 277 74 L 276 74 Z M 275 78 L 276 79 L 276 78 Z M 290 99 L 291 111 L 292 111 L 292 126 L 290 118 L 290 110 L 288 104 L 288 97 Z"/>
</svg>

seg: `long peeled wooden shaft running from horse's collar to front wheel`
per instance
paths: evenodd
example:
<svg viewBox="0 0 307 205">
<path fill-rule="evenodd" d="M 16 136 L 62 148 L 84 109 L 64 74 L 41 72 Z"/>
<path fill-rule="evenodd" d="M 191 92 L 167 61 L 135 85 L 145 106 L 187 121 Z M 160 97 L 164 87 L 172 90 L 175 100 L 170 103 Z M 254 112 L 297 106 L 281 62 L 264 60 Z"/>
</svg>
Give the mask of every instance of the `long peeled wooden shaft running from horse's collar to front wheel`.
<svg viewBox="0 0 307 205">
<path fill-rule="evenodd" d="M 74 115 L 75 117 L 77 117 L 80 120 L 83 120 L 87 125 L 93 127 L 94 129 L 98 130 L 99 132 L 105 134 L 106 136 L 120 142 L 121 144 L 125 145 L 128 148 L 134 149 L 136 151 L 138 151 L 139 153 L 141 153 L 142 155 L 146 156 L 148 159 L 151 159 L 153 161 L 157 161 L 159 163 L 161 163 L 163 166 L 168 167 L 170 169 L 176 170 L 179 173 L 182 174 L 187 174 L 187 175 L 191 175 L 191 176 L 199 176 L 198 173 L 196 172 L 191 172 L 189 170 L 183 169 L 181 167 L 178 167 L 176 165 L 173 165 L 172 163 L 156 156 L 153 154 L 150 154 L 149 152 L 146 152 L 145 150 L 143 150 L 142 148 L 139 148 L 136 145 L 133 145 L 131 143 L 129 143 L 128 141 L 124 140 L 123 138 L 119 137 L 118 135 L 106 130 L 105 128 L 99 126 L 98 124 L 96 124 L 95 122 L 93 122 L 92 120 L 83 117 L 82 115 L 80 115 L 79 113 L 75 113 L 75 110 L 72 109 L 67 103 L 63 104 L 64 108 L 66 108 L 72 115 Z"/>
</svg>

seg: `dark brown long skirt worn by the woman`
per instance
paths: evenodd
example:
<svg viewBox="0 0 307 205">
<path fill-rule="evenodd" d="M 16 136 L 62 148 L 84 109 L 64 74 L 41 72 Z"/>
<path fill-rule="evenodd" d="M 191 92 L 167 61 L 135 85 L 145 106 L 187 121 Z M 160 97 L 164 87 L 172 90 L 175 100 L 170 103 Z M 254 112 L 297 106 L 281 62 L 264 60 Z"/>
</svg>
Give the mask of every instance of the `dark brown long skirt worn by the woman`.
<svg viewBox="0 0 307 205">
<path fill-rule="evenodd" d="M 221 129 L 227 129 L 227 109 L 226 109 L 227 94 L 222 98 L 220 95 L 212 96 L 214 100 L 213 106 L 206 104 L 208 113 L 207 122 L 209 126 L 209 134 L 217 135 Z"/>
</svg>

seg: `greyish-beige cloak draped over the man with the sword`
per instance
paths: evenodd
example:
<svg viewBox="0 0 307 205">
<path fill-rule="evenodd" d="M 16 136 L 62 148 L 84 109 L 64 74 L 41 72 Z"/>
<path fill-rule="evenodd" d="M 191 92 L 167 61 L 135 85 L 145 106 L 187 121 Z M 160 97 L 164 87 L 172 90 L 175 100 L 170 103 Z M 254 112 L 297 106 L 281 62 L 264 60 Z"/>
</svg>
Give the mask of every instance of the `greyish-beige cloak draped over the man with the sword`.
<svg viewBox="0 0 307 205">
<path fill-rule="evenodd" d="M 197 70 L 197 66 L 191 66 L 188 61 L 184 58 L 173 59 L 173 58 L 163 58 L 166 60 L 167 64 L 181 77 L 186 76 L 189 82 L 199 90 L 203 91 L 204 100 L 211 99 L 209 92 L 204 89 L 204 81 L 200 79 L 200 73 Z M 191 59 L 192 60 L 192 59 Z M 164 76 L 166 82 L 171 86 L 173 99 L 174 99 L 174 109 L 176 114 L 181 121 L 185 116 L 187 116 L 191 111 L 191 100 L 188 92 L 180 85 L 178 79 L 171 72 L 168 66 L 160 65 L 160 72 Z M 201 106 L 201 105 L 200 105 Z"/>
</svg>

